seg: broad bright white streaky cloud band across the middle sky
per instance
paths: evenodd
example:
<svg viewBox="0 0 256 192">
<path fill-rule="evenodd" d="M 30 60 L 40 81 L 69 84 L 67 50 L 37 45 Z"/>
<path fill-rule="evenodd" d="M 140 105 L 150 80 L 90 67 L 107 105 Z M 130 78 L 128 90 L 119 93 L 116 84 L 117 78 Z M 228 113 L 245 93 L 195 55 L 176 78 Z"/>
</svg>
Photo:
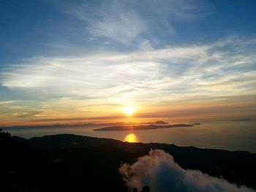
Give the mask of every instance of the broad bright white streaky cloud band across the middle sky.
<svg viewBox="0 0 256 192">
<path fill-rule="evenodd" d="M 246 96 L 256 93 L 256 58 L 252 51 L 245 52 L 248 42 L 240 44 L 244 49 L 236 53 L 233 42 L 225 42 L 222 50 L 214 43 L 132 53 L 34 57 L 4 69 L 0 82 L 7 88 L 46 96 L 106 101 Z"/>
</svg>

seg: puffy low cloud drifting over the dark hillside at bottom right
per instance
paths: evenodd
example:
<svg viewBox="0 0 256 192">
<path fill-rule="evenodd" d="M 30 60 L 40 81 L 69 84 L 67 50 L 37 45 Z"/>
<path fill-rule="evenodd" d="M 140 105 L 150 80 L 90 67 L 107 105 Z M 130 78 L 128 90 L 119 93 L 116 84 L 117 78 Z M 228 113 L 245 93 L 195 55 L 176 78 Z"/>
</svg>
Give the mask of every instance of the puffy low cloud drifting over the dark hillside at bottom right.
<svg viewBox="0 0 256 192">
<path fill-rule="evenodd" d="M 138 158 L 135 164 L 123 164 L 119 168 L 128 187 L 149 186 L 151 192 L 252 192 L 246 186 L 238 187 L 227 180 L 211 177 L 198 170 L 185 170 L 176 164 L 173 156 L 163 150 L 151 150 Z"/>
</svg>

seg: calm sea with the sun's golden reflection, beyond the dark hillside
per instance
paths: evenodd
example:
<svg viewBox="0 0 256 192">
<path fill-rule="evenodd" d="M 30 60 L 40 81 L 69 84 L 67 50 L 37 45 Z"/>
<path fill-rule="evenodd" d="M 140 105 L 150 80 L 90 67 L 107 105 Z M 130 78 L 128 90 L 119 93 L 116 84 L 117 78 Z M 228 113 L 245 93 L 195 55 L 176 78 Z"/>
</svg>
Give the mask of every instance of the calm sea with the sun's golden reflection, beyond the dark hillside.
<svg viewBox="0 0 256 192">
<path fill-rule="evenodd" d="M 170 122 L 171 123 L 171 122 Z M 157 142 L 256 153 L 256 121 L 202 122 L 194 127 L 158 128 L 134 131 L 94 131 L 91 127 L 5 128 L 12 136 L 31 138 L 53 134 L 78 134 L 128 142 Z"/>
</svg>

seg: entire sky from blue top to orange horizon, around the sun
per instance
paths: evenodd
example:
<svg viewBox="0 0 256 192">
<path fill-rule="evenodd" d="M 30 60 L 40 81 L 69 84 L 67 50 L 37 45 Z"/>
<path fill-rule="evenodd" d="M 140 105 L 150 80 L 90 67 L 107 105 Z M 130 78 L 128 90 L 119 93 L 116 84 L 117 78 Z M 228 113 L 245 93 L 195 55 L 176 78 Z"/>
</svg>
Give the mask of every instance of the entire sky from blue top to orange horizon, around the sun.
<svg viewBox="0 0 256 192">
<path fill-rule="evenodd" d="M 0 0 L 0 126 L 256 118 L 254 0 Z"/>
</svg>

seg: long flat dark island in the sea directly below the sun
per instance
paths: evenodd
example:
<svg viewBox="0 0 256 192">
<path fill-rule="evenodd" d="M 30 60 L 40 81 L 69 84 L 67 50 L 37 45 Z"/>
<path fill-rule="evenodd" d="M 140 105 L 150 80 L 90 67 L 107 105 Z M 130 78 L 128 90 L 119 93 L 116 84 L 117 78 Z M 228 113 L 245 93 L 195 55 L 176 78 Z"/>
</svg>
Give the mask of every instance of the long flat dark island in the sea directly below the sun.
<svg viewBox="0 0 256 192">
<path fill-rule="evenodd" d="M 110 126 L 104 128 L 95 128 L 94 131 L 127 131 L 127 130 L 146 130 L 146 129 L 156 129 L 156 128 L 173 128 L 173 127 L 192 127 L 198 125 L 194 124 L 173 124 L 173 125 L 148 125 L 148 126 Z"/>
</svg>

